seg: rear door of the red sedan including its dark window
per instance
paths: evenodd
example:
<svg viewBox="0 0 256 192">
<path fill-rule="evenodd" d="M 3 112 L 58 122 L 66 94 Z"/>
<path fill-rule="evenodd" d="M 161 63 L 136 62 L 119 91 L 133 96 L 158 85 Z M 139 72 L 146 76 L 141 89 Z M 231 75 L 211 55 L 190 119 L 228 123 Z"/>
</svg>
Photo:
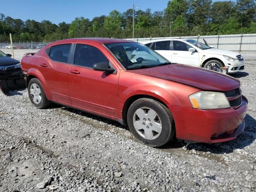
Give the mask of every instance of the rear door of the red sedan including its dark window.
<svg viewBox="0 0 256 192">
<path fill-rule="evenodd" d="M 68 68 L 71 43 L 64 43 L 46 49 L 40 58 L 38 70 L 43 74 L 51 98 L 70 103 L 68 94 Z"/>
</svg>

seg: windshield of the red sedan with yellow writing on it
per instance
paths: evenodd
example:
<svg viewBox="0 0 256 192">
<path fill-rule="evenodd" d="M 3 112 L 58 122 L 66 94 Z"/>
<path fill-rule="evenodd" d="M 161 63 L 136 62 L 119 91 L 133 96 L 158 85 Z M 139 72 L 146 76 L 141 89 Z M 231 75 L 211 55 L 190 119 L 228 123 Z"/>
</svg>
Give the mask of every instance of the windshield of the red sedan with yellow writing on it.
<svg viewBox="0 0 256 192">
<path fill-rule="evenodd" d="M 138 69 L 170 64 L 145 45 L 139 43 L 109 43 L 105 46 L 116 56 L 126 69 Z"/>
</svg>

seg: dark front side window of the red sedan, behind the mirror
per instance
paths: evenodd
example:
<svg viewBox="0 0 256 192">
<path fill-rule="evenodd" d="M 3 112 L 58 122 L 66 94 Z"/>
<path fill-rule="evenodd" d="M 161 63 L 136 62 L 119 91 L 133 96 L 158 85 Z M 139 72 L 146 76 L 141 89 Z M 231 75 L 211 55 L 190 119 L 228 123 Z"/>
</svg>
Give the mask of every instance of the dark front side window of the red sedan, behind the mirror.
<svg viewBox="0 0 256 192">
<path fill-rule="evenodd" d="M 74 64 L 92 68 L 95 63 L 107 62 L 104 54 L 94 46 L 77 44 L 74 56 Z"/>
</svg>

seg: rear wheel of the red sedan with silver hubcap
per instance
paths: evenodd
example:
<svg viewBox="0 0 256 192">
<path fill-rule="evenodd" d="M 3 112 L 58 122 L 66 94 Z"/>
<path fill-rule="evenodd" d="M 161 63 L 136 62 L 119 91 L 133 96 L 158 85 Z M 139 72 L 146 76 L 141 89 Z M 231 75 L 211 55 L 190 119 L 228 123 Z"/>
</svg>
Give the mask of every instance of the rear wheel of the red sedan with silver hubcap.
<svg viewBox="0 0 256 192">
<path fill-rule="evenodd" d="M 48 107 L 52 102 L 50 102 L 45 94 L 44 90 L 42 88 L 42 84 L 37 78 L 32 78 L 28 83 L 28 96 L 30 98 L 30 101 L 36 108 L 46 108 Z"/>
</svg>

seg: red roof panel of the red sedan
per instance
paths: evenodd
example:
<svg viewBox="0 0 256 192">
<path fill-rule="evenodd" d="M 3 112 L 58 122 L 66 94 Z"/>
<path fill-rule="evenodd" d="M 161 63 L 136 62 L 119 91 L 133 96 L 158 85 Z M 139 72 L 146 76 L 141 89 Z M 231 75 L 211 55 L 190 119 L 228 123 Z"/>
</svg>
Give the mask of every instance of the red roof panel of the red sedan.
<svg viewBox="0 0 256 192">
<path fill-rule="evenodd" d="M 106 44 L 106 43 L 136 43 L 134 41 L 130 40 L 124 40 L 124 39 L 114 39 L 114 38 L 74 38 L 74 39 L 65 39 L 65 40 L 59 40 L 54 43 L 61 43 L 61 42 L 98 42 L 100 44 Z"/>
</svg>

